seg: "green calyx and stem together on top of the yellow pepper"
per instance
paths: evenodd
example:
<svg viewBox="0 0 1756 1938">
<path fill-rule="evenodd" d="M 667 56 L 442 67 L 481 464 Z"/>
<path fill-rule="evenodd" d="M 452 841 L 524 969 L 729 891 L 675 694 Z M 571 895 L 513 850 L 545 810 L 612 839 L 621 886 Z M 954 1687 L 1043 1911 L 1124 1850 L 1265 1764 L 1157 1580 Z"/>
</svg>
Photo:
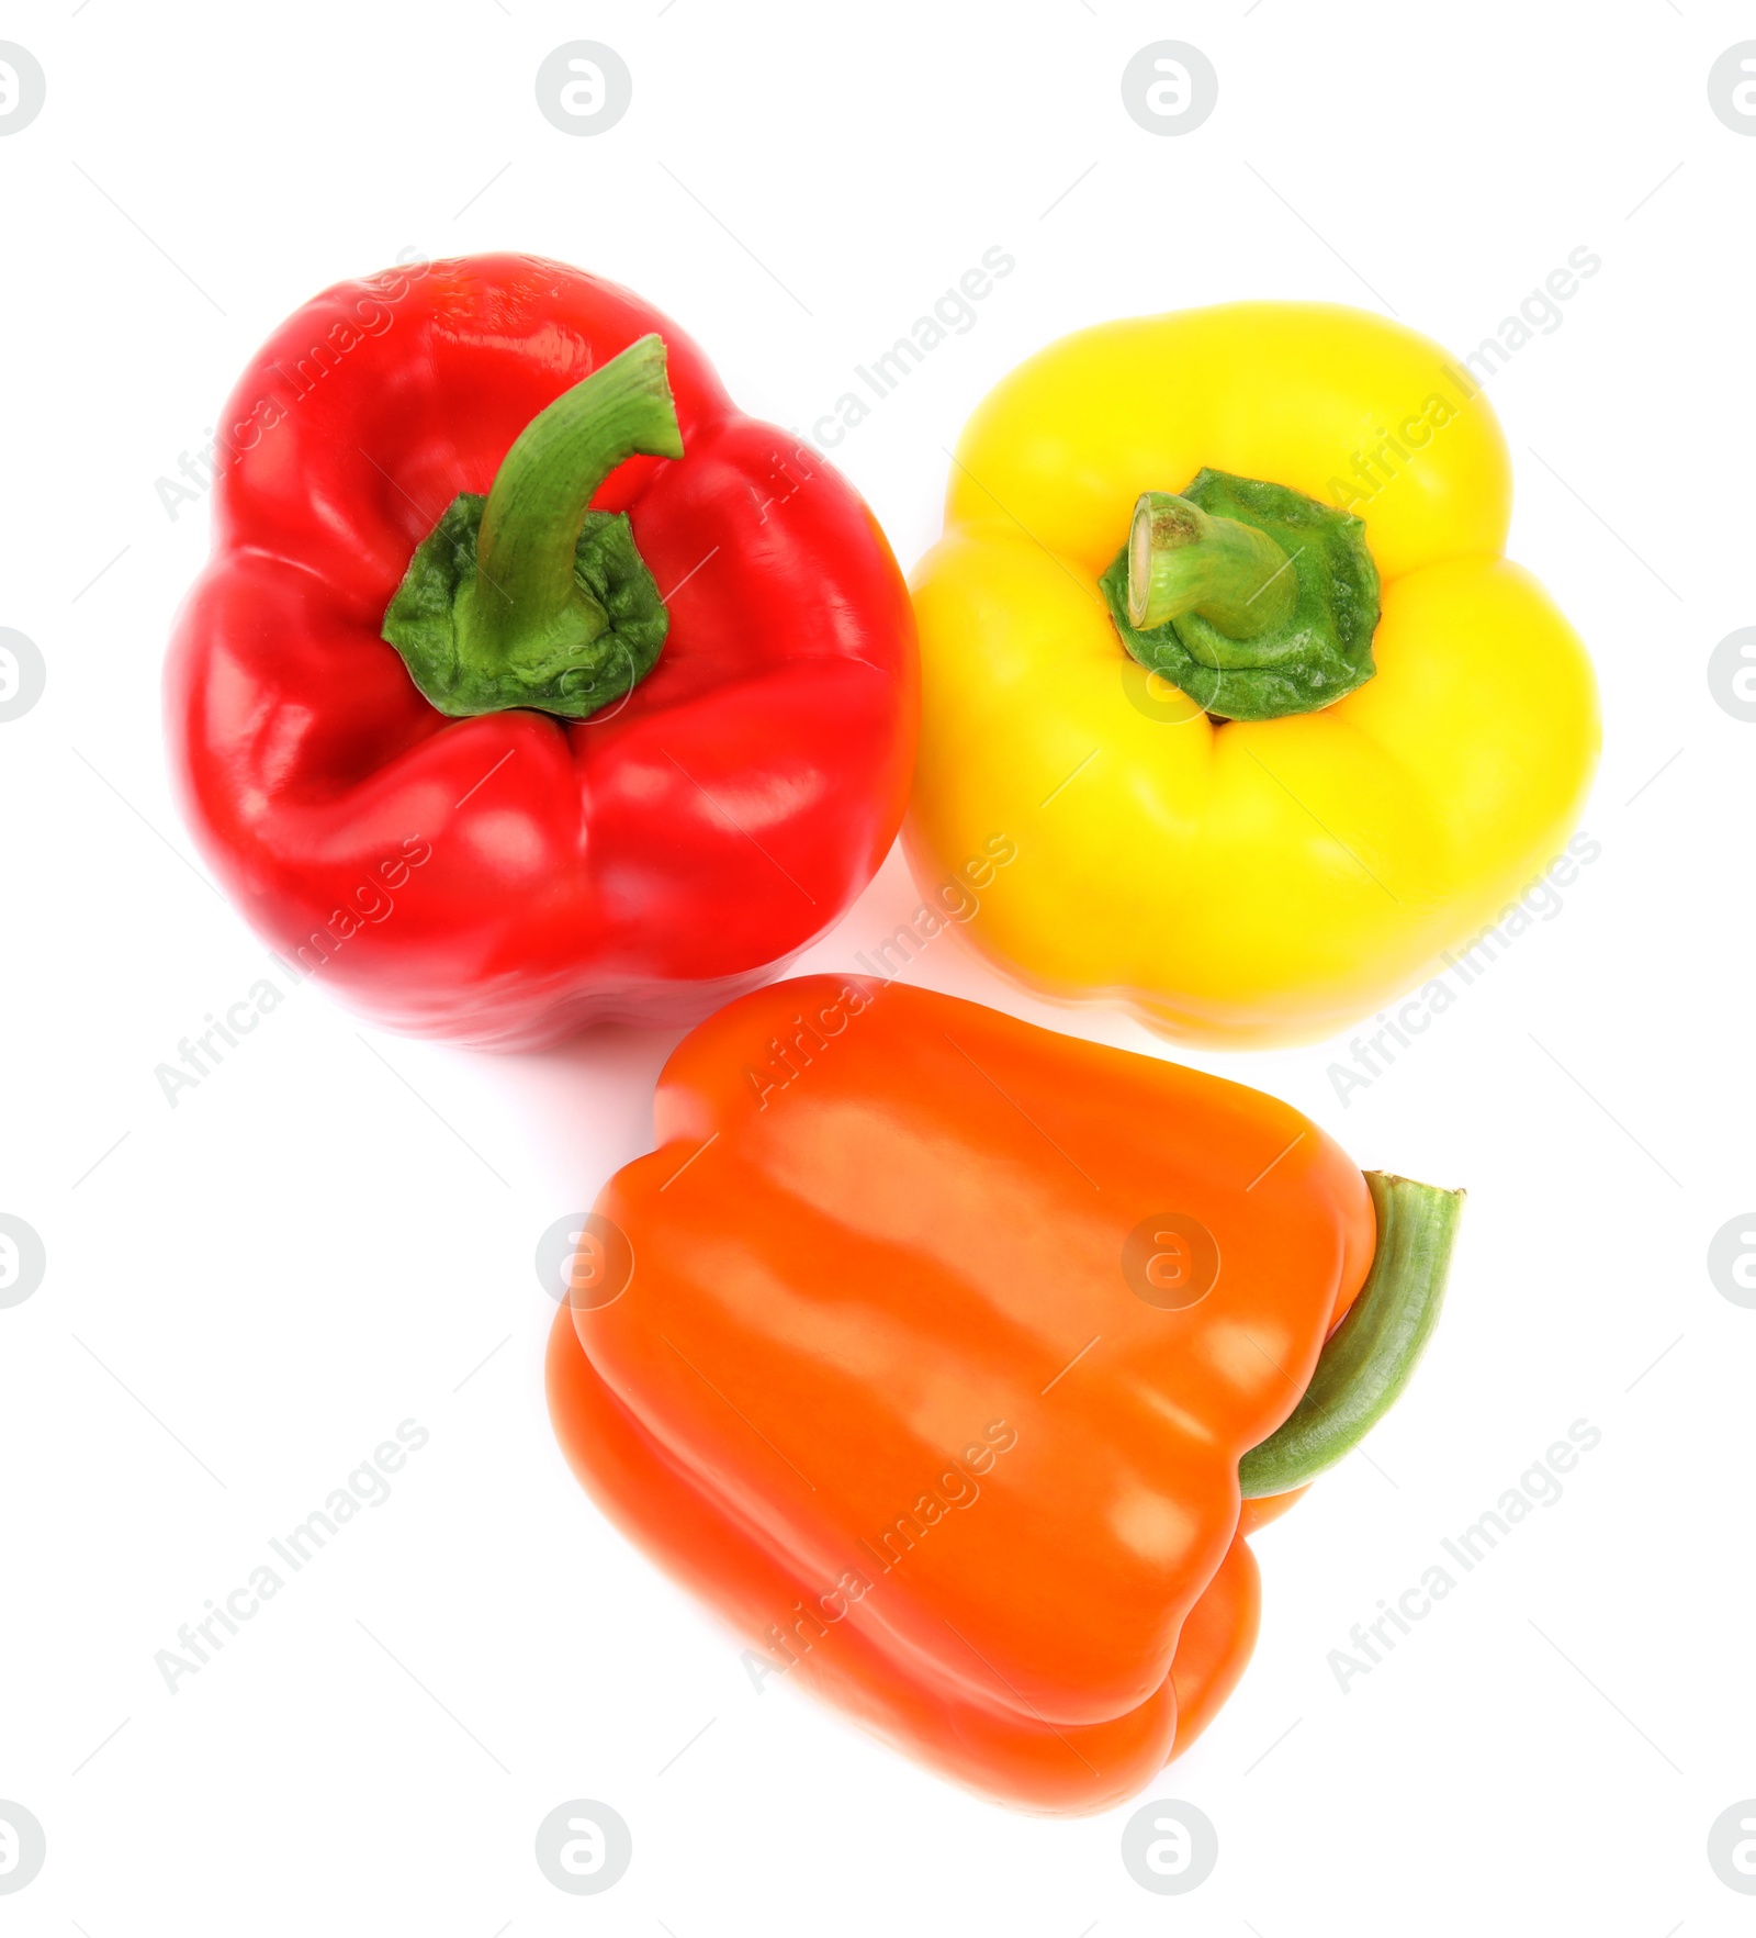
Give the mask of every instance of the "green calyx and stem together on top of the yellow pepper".
<svg viewBox="0 0 1756 1938">
<path fill-rule="evenodd" d="M 1142 492 L 1098 585 L 1129 653 L 1222 719 L 1315 713 L 1377 671 L 1365 525 L 1287 484 L 1202 471 Z"/>
</svg>

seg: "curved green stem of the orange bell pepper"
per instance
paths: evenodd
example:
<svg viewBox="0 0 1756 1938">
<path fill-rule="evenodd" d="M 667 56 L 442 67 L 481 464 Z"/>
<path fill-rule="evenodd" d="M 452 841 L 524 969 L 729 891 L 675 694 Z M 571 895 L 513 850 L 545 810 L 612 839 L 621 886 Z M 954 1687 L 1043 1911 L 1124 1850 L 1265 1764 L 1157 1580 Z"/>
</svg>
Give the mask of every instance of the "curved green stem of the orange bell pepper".
<svg viewBox="0 0 1756 1938">
<path fill-rule="evenodd" d="M 1408 1386 L 1438 1324 L 1462 1192 L 1365 1174 L 1378 1248 L 1291 1415 L 1237 1463 L 1245 1500 L 1286 1494 L 1351 1452 Z"/>
</svg>

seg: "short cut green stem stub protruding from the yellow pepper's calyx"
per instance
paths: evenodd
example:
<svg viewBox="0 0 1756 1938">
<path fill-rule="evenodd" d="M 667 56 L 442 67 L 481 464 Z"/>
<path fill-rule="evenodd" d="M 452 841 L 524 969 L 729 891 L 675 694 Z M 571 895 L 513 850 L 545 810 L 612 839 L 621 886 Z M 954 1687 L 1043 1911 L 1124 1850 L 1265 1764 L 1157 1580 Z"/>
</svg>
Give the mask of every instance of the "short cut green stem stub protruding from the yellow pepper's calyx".
<svg viewBox="0 0 1756 1938">
<path fill-rule="evenodd" d="M 1129 620 L 1146 628 L 1198 612 L 1227 640 L 1249 640 L 1293 616 L 1291 564 L 1255 525 L 1208 517 L 1173 492 L 1140 492 L 1129 527 Z"/>
</svg>

